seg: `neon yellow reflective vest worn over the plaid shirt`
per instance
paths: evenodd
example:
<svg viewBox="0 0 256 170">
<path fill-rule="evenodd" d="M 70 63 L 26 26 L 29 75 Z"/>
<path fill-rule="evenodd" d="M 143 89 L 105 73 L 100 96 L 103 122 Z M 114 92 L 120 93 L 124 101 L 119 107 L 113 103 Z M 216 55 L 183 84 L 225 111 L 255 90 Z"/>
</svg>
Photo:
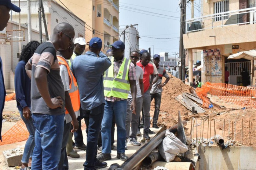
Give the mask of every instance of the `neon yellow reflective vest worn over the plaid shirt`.
<svg viewBox="0 0 256 170">
<path fill-rule="evenodd" d="M 109 57 L 112 65 L 106 70 L 104 75 L 104 95 L 106 97 L 128 98 L 130 84 L 128 71 L 131 60 L 124 58 L 118 74 L 114 77 L 113 61 L 114 57 Z"/>
</svg>

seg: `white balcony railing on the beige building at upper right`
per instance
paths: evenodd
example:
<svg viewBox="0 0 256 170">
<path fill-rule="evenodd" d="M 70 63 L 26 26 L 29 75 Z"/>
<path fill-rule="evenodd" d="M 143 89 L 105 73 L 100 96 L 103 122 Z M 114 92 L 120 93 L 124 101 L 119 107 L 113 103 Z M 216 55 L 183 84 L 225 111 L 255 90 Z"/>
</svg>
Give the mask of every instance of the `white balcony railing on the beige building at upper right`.
<svg viewBox="0 0 256 170">
<path fill-rule="evenodd" d="M 255 24 L 255 16 L 256 7 L 253 7 L 191 18 L 186 20 L 186 33 L 231 25 Z M 246 21 L 243 20 L 243 17 L 246 18 Z"/>
</svg>

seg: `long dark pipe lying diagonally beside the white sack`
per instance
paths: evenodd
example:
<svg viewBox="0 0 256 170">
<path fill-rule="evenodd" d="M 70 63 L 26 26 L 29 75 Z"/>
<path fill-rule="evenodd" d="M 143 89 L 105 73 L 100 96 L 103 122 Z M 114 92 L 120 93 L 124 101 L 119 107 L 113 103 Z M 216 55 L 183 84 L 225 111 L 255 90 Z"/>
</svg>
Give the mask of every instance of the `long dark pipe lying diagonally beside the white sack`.
<svg viewBox="0 0 256 170">
<path fill-rule="evenodd" d="M 182 121 L 183 126 L 187 125 L 187 121 Z M 175 124 L 174 126 L 170 127 L 168 130 L 170 132 L 176 132 L 178 128 L 178 124 Z M 144 158 L 147 157 L 165 138 L 165 132 L 167 130 L 161 132 L 160 134 L 156 135 L 154 138 L 152 138 L 147 144 L 145 144 L 143 147 L 141 147 L 138 151 L 136 151 L 127 161 L 122 163 L 118 167 L 120 170 L 131 170 L 134 169 L 139 165 L 140 162 L 143 161 Z"/>
</svg>

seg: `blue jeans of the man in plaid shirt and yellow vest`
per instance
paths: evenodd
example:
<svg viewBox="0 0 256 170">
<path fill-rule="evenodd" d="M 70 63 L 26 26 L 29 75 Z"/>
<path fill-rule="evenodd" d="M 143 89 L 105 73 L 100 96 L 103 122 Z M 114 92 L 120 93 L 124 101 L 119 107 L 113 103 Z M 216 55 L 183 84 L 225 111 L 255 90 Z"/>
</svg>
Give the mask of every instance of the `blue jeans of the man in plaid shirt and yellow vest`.
<svg viewBox="0 0 256 170">
<path fill-rule="evenodd" d="M 111 122 L 113 115 L 117 125 L 117 153 L 125 152 L 125 119 L 126 119 L 127 100 L 105 101 L 104 115 L 101 124 L 102 153 L 111 153 Z"/>
</svg>

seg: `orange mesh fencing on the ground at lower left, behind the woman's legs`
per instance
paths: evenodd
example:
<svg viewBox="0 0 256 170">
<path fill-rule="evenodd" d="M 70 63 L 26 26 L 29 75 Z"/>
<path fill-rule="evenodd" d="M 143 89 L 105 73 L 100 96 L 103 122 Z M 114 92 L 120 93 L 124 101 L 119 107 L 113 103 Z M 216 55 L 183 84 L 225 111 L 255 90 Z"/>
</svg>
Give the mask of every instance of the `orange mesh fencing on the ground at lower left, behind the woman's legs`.
<svg viewBox="0 0 256 170">
<path fill-rule="evenodd" d="M 3 134 L 3 142 L 0 141 L 0 145 L 21 142 L 27 140 L 28 137 L 29 132 L 26 125 L 22 120 L 20 120 L 10 130 Z"/>
</svg>

